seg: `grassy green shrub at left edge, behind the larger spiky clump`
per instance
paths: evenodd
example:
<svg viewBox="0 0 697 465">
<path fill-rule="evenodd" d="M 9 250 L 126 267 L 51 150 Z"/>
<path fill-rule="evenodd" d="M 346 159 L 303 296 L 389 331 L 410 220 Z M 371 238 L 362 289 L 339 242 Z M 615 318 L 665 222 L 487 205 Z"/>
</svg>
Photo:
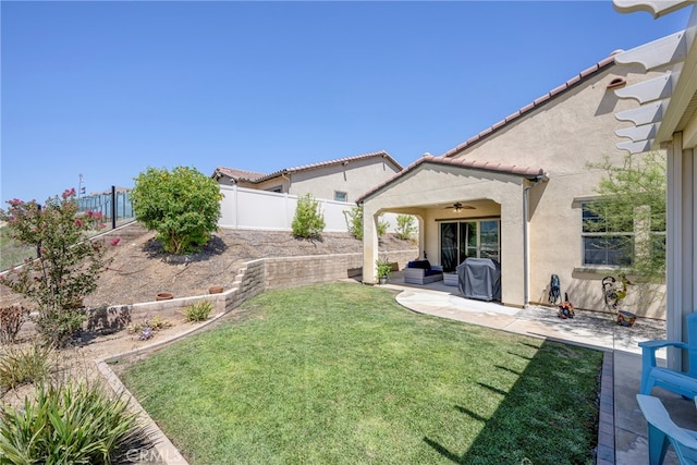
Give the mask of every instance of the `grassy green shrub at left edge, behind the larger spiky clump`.
<svg viewBox="0 0 697 465">
<path fill-rule="evenodd" d="M 12 345 L 0 351 L 0 392 L 44 380 L 51 372 L 50 347 Z"/>
</svg>

